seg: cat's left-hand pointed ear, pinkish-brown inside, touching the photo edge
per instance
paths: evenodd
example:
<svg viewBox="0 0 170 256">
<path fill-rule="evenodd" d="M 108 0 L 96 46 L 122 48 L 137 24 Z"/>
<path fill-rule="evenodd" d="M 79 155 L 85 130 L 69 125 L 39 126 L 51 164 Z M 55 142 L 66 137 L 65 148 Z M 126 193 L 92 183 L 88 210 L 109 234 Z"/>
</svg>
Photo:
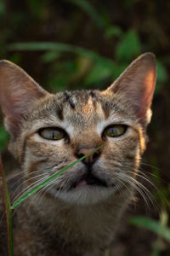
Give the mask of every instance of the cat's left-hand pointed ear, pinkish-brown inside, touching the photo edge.
<svg viewBox="0 0 170 256">
<path fill-rule="evenodd" d="M 11 135 L 20 131 L 20 123 L 37 99 L 48 93 L 20 67 L 0 61 L 0 106 L 5 126 Z"/>
</svg>

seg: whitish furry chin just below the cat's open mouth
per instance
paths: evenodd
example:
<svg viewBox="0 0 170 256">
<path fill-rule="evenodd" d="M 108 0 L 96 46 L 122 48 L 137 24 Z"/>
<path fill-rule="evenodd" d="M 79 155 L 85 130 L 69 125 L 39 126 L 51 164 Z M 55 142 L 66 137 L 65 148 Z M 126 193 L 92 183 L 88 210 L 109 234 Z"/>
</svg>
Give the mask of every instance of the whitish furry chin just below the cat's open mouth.
<svg viewBox="0 0 170 256">
<path fill-rule="evenodd" d="M 116 194 L 116 191 L 116 187 L 101 188 L 87 185 L 69 191 L 58 191 L 54 196 L 69 204 L 89 205 L 105 201 L 111 195 Z"/>
</svg>

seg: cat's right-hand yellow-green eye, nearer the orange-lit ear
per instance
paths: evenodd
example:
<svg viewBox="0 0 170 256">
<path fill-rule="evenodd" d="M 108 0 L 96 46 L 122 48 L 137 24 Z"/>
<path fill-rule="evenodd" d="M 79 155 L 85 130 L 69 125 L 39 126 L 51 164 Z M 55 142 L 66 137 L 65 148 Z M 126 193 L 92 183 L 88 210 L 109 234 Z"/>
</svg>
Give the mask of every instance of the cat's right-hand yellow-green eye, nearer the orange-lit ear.
<svg viewBox="0 0 170 256">
<path fill-rule="evenodd" d="M 118 137 L 125 133 L 127 125 L 111 125 L 104 131 L 104 137 Z"/>
</svg>

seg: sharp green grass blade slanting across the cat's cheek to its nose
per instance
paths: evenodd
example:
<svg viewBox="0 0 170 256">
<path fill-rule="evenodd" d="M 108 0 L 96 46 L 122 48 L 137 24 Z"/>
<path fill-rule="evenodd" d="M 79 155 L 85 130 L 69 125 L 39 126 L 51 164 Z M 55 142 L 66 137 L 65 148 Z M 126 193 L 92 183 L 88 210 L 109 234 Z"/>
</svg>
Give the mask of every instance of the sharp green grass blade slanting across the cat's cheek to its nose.
<svg viewBox="0 0 170 256">
<path fill-rule="evenodd" d="M 27 192 L 26 194 L 20 196 L 20 198 L 16 201 L 14 201 L 14 204 L 12 205 L 11 209 L 14 209 L 16 207 L 19 207 L 20 204 L 25 201 L 28 197 L 30 197 L 31 195 L 33 195 L 34 193 L 36 193 L 39 189 L 42 189 L 45 185 L 47 185 L 48 183 L 52 182 L 56 177 L 59 177 L 59 175 L 63 172 L 65 172 L 66 170 L 68 170 L 69 168 L 71 168 L 72 166 L 75 166 L 78 162 L 82 161 L 83 159 L 85 159 L 86 157 L 88 157 L 88 155 L 93 154 L 95 151 L 99 150 L 100 148 L 102 148 L 104 145 L 100 146 L 99 148 L 94 149 L 93 151 L 91 151 L 90 153 L 82 156 L 79 160 L 76 160 L 75 162 L 71 163 L 71 165 L 66 166 L 65 168 L 63 168 L 62 170 L 60 170 L 59 172 L 54 173 L 54 175 L 52 175 L 51 177 L 48 177 L 45 181 L 43 181 L 42 183 L 40 183 L 39 185 L 37 185 L 35 188 L 31 189 L 29 192 Z"/>
</svg>

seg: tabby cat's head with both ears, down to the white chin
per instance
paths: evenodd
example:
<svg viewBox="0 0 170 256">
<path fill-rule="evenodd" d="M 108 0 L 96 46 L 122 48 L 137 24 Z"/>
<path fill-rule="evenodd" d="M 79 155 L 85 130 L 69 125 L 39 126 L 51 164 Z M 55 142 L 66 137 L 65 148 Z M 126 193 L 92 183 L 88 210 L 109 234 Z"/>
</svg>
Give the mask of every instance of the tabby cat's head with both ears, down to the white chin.
<svg viewBox="0 0 170 256">
<path fill-rule="evenodd" d="M 31 187 L 99 146 L 48 184 L 46 195 L 94 204 L 138 187 L 156 80 L 154 55 L 141 55 L 104 91 L 51 95 L 8 61 L 0 63 L 0 75 L 9 148 Z"/>
</svg>

